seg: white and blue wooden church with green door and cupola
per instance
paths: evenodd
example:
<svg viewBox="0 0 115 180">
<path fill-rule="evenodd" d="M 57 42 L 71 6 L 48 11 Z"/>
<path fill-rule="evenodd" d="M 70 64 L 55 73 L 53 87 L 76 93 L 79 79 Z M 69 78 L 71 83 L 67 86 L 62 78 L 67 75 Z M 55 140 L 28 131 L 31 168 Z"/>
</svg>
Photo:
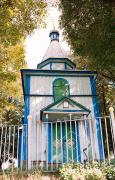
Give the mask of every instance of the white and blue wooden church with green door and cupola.
<svg viewBox="0 0 115 180">
<path fill-rule="evenodd" d="M 21 70 L 27 126 L 22 159 L 29 169 L 103 160 L 97 73 L 77 69 L 62 49 L 57 30 L 49 37 L 37 68 Z"/>
</svg>

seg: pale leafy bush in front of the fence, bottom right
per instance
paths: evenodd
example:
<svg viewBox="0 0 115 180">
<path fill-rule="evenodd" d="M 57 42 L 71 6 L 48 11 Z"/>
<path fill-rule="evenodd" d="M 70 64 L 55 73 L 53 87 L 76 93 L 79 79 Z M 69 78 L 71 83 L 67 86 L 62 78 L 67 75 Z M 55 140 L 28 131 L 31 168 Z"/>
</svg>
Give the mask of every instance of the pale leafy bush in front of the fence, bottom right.
<svg viewBox="0 0 115 180">
<path fill-rule="evenodd" d="M 60 168 L 60 176 L 65 180 L 114 180 L 115 165 L 67 164 Z"/>
</svg>

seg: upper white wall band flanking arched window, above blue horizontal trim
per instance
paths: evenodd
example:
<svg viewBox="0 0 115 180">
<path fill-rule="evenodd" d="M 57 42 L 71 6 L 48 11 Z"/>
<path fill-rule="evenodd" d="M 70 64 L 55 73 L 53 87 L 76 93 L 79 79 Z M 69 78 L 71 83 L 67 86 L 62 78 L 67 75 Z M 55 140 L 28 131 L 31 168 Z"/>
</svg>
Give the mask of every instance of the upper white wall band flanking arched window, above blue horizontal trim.
<svg viewBox="0 0 115 180">
<path fill-rule="evenodd" d="M 53 81 L 58 77 L 32 76 L 30 94 L 53 95 Z M 88 77 L 59 77 L 70 84 L 71 95 L 91 94 L 90 79 Z"/>
</svg>

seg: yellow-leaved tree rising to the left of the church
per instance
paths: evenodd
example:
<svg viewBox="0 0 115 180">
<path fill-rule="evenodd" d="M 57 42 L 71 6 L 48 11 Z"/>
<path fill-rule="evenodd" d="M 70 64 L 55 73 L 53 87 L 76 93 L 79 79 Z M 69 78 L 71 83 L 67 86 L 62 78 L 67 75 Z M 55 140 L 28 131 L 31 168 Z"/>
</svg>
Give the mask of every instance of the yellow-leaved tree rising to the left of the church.
<svg viewBox="0 0 115 180">
<path fill-rule="evenodd" d="M 20 120 L 20 69 L 25 66 L 24 39 L 42 26 L 45 0 L 0 1 L 0 121 Z M 16 122 L 16 121 L 15 121 Z"/>
</svg>

